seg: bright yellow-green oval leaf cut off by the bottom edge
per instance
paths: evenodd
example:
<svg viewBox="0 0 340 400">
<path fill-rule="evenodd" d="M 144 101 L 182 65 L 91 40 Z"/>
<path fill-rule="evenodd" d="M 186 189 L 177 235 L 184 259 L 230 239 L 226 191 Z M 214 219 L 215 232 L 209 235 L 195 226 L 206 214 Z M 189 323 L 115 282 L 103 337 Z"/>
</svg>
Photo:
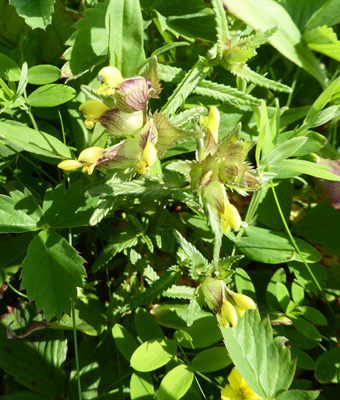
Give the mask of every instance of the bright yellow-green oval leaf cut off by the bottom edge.
<svg viewBox="0 0 340 400">
<path fill-rule="evenodd" d="M 158 390 L 158 400 L 179 400 L 189 390 L 194 373 L 187 365 L 181 364 L 169 371 Z"/>
</svg>

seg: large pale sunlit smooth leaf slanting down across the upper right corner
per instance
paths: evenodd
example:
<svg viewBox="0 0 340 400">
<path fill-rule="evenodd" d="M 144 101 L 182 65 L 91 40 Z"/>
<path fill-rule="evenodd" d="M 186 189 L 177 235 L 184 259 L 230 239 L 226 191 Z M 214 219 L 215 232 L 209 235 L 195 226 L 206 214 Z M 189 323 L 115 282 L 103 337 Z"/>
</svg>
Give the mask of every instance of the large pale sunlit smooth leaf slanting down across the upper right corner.
<svg viewBox="0 0 340 400">
<path fill-rule="evenodd" d="M 228 11 L 255 30 L 266 30 L 278 26 L 277 32 L 269 39 L 281 54 L 325 85 L 326 74 L 320 63 L 301 40 L 301 33 L 287 11 L 273 0 L 223 0 Z"/>
</svg>

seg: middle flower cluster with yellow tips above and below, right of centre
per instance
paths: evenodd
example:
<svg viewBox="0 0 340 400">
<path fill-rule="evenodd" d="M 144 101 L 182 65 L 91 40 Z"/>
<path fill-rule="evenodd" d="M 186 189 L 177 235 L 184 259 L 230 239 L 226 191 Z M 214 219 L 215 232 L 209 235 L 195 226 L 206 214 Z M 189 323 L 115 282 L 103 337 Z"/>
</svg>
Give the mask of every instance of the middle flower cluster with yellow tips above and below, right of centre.
<svg viewBox="0 0 340 400">
<path fill-rule="evenodd" d="M 252 143 L 240 139 L 239 126 L 219 143 L 219 121 L 219 111 L 212 107 L 204 120 L 205 139 L 191 166 L 191 188 L 198 192 L 210 218 L 220 220 L 223 232 L 238 231 L 241 218 L 230 204 L 226 188 L 246 196 L 247 191 L 258 189 L 259 181 L 245 162 Z"/>
</svg>

